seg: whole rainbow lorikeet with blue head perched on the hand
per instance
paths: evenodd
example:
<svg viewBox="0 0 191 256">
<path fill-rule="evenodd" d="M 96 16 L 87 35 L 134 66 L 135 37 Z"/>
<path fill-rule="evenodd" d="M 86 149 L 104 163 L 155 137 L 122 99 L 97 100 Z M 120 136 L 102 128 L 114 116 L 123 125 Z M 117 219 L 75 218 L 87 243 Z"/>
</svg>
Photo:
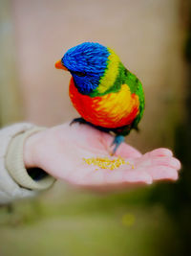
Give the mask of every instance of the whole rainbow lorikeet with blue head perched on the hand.
<svg viewBox="0 0 191 256">
<path fill-rule="evenodd" d="M 81 118 L 100 130 L 116 134 L 113 153 L 138 123 L 144 110 L 144 93 L 138 78 L 128 71 L 109 47 L 96 42 L 81 43 L 55 63 L 68 70 L 69 94 Z"/>
</svg>

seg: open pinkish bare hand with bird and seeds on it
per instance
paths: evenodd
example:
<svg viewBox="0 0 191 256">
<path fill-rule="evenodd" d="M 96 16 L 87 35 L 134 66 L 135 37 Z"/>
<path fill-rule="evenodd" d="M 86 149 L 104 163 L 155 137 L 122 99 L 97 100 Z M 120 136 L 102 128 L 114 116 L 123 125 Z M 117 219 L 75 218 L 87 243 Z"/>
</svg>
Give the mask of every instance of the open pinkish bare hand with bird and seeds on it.
<svg viewBox="0 0 191 256">
<path fill-rule="evenodd" d="M 172 151 L 157 149 L 141 154 L 122 143 L 120 155 L 129 165 L 115 170 L 88 165 L 83 158 L 111 157 L 114 137 L 87 125 L 69 123 L 32 134 L 24 145 L 26 168 L 41 168 L 56 179 L 75 187 L 96 191 L 117 190 L 152 184 L 158 180 L 177 180 L 180 161 Z"/>
</svg>

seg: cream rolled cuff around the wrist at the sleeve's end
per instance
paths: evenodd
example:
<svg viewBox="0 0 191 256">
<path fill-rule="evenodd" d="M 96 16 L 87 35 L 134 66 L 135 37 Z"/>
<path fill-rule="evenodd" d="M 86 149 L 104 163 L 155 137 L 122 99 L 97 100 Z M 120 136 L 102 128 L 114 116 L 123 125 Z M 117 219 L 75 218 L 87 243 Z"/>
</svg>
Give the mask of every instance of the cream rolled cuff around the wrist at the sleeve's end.
<svg viewBox="0 0 191 256">
<path fill-rule="evenodd" d="M 31 190 L 45 190 L 53 185 L 53 176 L 45 175 L 42 179 L 35 181 L 28 174 L 23 160 L 23 148 L 25 140 L 33 133 L 44 128 L 32 128 L 24 133 L 20 133 L 12 138 L 6 155 L 6 166 L 13 180 L 21 187 Z"/>
</svg>

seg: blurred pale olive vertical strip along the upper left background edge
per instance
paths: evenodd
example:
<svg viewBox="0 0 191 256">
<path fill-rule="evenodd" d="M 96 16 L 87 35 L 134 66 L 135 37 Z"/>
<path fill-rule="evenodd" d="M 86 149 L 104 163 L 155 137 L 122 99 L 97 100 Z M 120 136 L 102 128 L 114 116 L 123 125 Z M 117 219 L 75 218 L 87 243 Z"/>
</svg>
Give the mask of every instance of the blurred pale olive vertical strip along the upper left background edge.
<svg viewBox="0 0 191 256">
<path fill-rule="evenodd" d="M 11 1 L 0 0 L 0 126 L 22 119 Z"/>
</svg>

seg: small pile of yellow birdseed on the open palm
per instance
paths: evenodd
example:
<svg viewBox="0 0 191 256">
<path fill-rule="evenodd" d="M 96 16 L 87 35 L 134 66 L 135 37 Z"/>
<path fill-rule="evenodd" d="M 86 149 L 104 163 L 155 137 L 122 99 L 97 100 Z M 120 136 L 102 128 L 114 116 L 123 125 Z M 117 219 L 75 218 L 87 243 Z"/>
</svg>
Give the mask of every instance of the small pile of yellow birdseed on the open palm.
<svg viewBox="0 0 191 256">
<path fill-rule="evenodd" d="M 95 165 L 99 167 L 100 169 L 109 169 L 109 170 L 115 170 L 121 165 L 129 165 L 129 162 L 125 162 L 124 158 L 121 156 L 118 156 L 114 159 L 109 159 L 109 157 L 92 157 L 92 158 L 82 158 L 86 164 L 88 165 Z M 134 169 L 134 165 L 132 165 L 132 169 Z M 98 170 L 98 169 L 96 169 Z"/>
</svg>

